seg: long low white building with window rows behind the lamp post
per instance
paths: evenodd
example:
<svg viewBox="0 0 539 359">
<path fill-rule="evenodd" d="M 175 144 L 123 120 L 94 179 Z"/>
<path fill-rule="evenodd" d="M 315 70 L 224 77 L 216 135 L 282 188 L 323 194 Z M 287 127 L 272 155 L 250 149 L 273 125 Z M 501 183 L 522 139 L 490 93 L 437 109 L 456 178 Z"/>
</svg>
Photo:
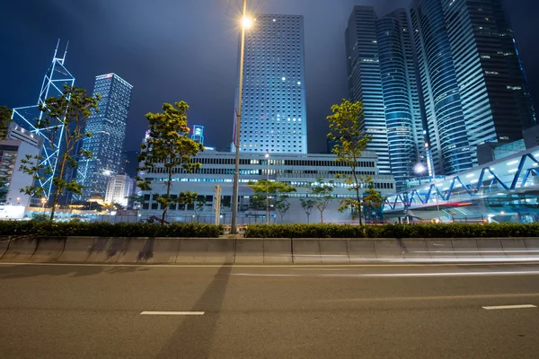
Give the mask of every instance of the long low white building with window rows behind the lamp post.
<svg viewBox="0 0 539 359">
<path fill-rule="evenodd" d="M 204 210 L 204 216 L 211 217 L 214 212 L 212 209 L 212 197 L 216 185 L 222 188 L 222 203 L 232 203 L 232 187 L 234 175 L 234 153 L 205 152 L 199 153 L 194 158 L 194 162 L 199 162 L 201 168 L 194 173 L 186 173 L 179 168 L 173 175 L 171 193 L 178 194 L 181 191 L 197 192 L 199 196 L 206 197 L 208 202 Z M 240 158 L 240 184 L 239 184 L 239 218 L 238 223 L 252 223 L 257 215 L 265 215 L 264 211 L 257 213 L 252 210 L 250 197 L 252 189 L 248 186 L 249 181 L 256 180 L 275 180 L 285 182 L 296 188 L 296 192 L 289 194 L 290 210 L 283 221 L 286 223 L 305 223 L 305 211 L 301 206 L 301 199 L 313 197 L 309 193 L 310 186 L 318 179 L 322 178 L 328 182 L 334 181 L 333 197 L 327 212 L 324 212 L 326 222 L 347 222 L 349 221 L 349 212 L 340 213 L 337 209 L 339 199 L 350 197 L 349 185 L 344 180 L 336 179 L 338 174 L 350 174 L 349 167 L 340 162 L 335 162 L 335 156 L 331 154 L 271 154 L 266 158 L 264 153 L 241 153 Z M 358 174 L 371 176 L 375 182 L 376 189 L 384 196 L 395 193 L 395 182 L 391 175 L 378 174 L 376 153 L 365 152 L 358 160 Z M 155 200 L 159 193 L 166 190 L 164 183 L 165 175 L 160 171 L 159 166 L 155 170 L 147 173 L 141 173 L 144 178 L 148 177 L 155 182 L 152 185 L 152 191 L 142 193 L 146 200 L 141 206 L 141 215 L 160 216 L 163 209 Z M 169 207 L 168 215 L 171 221 L 190 221 L 194 206 L 184 206 L 172 204 Z M 225 208 L 230 210 L 230 207 Z M 276 212 L 271 209 L 272 218 L 275 218 Z M 278 215 L 277 215 L 278 216 Z M 320 214 L 314 208 L 312 221 L 319 220 Z M 227 218 L 230 220 L 230 217 Z M 274 221 L 274 220 L 272 220 Z M 226 222 L 226 218 L 224 219 Z"/>
</svg>

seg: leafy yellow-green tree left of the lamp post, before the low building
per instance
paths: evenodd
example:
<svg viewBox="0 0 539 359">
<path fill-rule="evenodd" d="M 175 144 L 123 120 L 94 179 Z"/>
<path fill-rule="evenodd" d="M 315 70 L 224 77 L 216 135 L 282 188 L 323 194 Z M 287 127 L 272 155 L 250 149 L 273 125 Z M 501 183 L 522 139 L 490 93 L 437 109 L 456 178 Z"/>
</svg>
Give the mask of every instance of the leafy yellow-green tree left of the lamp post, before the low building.
<svg viewBox="0 0 539 359">
<path fill-rule="evenodd" d="M 164 181 L 166 191 L 160 194 L 156 201 L 163 208 L 162 222 L 172 203 L 192 204 L 197 193 L 181 192 L 178 196 L 171 196 L 172 174 L 181 167 L 184 171 L 192 172 L 200 168 L 200 163 L 192 162 L 192 158 L 204 150 L 202 144 L 190 139 L 187 126 L 187 110 L 189 105 L 184 102 L 163 103 L 162 113 L 147 113 L 149 123 L 149 138 L 141 144 L 141 153 L 138 162 L 142 166 L 138 171 L 152 172 L 163 168 L 167 178 Z M 159 179 L 160 181 L 162 179 Z M 149 177 L 137 176 L 137 186 L 143 191 L 152 190 L 152 181 Z"/>
</svg>

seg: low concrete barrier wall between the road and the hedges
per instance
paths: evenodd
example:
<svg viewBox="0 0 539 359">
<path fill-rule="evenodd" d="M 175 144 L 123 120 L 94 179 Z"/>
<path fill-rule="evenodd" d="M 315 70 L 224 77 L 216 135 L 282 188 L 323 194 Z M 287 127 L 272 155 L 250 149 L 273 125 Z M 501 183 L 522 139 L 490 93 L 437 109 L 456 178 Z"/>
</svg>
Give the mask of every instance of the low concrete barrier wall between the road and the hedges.
<svg viewBox="0 0 539 359">
<path fill-rule="evenodd" d="M 539 238 L 4 237 L 0 261 L 238 265 L 539 261 Z"/>
</svg>

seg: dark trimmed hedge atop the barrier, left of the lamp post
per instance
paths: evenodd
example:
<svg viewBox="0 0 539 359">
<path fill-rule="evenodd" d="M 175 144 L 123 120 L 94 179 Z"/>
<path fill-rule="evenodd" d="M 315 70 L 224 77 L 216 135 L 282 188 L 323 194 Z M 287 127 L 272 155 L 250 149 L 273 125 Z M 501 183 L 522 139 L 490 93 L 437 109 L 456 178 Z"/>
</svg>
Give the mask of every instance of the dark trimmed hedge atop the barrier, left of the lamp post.
<svg viewBox="0 0 539 359">
<path fill-rule="evenodd" d="M 200 223 L 84 223 L 0 221 L 0 235 L 94 237 L 218 237 L 222 225 Z"/>
</svg>

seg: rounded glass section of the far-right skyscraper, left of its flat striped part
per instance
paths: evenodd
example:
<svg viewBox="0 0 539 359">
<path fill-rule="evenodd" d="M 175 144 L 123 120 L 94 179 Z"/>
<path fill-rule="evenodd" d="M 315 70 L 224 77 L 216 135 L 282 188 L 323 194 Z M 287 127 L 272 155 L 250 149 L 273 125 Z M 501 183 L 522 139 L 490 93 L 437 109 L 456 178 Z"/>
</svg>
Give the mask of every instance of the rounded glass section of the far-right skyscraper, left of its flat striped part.
<svg viewBox="0 0 539 359">
<path fill-rule="evenodd" d="M 437 174 L 449 175 L 470 169 L 473 151 L 443 14 L 440 0 L 414 0 L 411 7 L 432 162 Z"/>
</svg>

